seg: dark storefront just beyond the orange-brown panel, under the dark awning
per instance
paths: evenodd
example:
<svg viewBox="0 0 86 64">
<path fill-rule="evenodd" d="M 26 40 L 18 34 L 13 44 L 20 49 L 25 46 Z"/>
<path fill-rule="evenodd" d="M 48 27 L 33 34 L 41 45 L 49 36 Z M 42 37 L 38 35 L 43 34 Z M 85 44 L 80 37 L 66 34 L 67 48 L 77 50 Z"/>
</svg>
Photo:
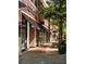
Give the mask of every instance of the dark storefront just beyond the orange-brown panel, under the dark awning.
<svg viewBox="0 0 86 64">
<path fill-rule="evenodd" d="M 39 27 L 36 31 L 37 47 L 42 47 L 44 43 L 47 43 L 49 41 L 49 38 L 48 38 L 49 31 L 42 25 L 39 24 L 38 26 Z"/>
</svg>

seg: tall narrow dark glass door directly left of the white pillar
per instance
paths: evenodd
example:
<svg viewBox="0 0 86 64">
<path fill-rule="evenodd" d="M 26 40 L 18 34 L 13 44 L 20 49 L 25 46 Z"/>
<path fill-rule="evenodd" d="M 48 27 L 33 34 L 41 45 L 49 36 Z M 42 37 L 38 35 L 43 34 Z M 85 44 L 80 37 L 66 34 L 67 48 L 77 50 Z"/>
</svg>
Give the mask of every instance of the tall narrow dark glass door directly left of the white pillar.
<svg viewBox="0 0 86 64">
<path fill-rule="evenodd" d="M 22 51 L 27 49 L 27 21 L 22 16 Z"/>
</svg>

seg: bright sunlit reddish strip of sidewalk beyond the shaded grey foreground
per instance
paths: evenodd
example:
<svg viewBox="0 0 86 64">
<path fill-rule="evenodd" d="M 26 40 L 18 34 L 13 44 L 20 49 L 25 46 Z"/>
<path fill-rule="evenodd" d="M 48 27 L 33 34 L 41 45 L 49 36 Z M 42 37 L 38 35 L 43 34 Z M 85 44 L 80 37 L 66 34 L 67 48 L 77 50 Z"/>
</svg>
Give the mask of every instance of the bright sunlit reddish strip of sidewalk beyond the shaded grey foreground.
<svg viewBox="0 0 86 64">
<path fill-rule="evenodd" d="M 29 48 L 29 52 L 58 52 L 58 48 L 44 48 L 44 47 L 36 47 L 36 48 Z"/>
</svg>

